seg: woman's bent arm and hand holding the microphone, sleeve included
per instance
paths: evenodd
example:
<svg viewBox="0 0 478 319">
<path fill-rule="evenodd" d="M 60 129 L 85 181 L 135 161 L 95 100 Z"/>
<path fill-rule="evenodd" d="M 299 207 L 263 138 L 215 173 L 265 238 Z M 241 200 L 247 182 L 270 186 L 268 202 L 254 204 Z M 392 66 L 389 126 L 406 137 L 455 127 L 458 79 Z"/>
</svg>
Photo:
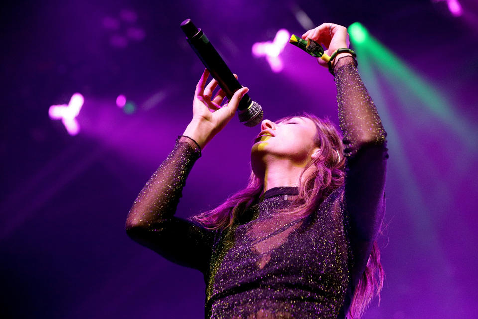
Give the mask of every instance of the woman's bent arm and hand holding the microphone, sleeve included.
<svg viewBox="0 0 478 319">
<path fill-rule="evenodd" d="M 207 71 L 199 81 L 193 101 L 193 120 L 183 135 L 196 140 L 200 148 L 212 139 L 234 116 L 246 88 L 238 90 L 227 106 L 221 90 L 211 99 L 217 82 L 204 88 Z M 210 111 L 212 110 L 212 111 Z M 210 114 L 207 114 L 207 113 Z M 129 211 L 126 232 L 136 242 L 161 254 L 166 259 L 204 272 L 209 265 L 216 232 L 174 214 L 182 197 L 182 189 L 201 149 L 191 139 L 178 137 L 166 160 L 143 187 Z"/>
</svg>

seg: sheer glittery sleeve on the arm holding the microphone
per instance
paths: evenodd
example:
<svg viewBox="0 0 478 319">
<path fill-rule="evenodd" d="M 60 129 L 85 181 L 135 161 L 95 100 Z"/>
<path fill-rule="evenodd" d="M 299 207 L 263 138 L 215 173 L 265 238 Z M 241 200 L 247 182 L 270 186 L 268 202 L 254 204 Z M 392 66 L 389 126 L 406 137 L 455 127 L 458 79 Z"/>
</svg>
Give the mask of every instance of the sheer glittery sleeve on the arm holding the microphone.
<svg viewBox="0 0 478 319">
<path fill-rule="evenodd" d="M 129 211 L 126 232 L 166 259 L 204 273 L 216 233 L 190 218 L 174 216 L 186 178 L 200 157 L 200 151 L 188 140 L 176 140 L 171 153 L 143 187 Z"/>
</svg>

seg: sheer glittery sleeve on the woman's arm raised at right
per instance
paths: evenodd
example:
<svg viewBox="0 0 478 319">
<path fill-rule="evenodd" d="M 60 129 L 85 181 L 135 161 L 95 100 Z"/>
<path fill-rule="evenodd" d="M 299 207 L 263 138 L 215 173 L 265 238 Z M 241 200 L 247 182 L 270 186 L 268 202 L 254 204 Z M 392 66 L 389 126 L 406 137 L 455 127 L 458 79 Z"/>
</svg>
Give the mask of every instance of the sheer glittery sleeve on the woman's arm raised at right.
<svg viewBox="0 0 478 319">
<path fill-rule="evenodd" d="M 335 68 L 340 127 L 346 156 L 345 209 L 353 276 L 365 270 L 385 212 L 386 136 L 375 104 L 352 57 Z"/>
</svg>

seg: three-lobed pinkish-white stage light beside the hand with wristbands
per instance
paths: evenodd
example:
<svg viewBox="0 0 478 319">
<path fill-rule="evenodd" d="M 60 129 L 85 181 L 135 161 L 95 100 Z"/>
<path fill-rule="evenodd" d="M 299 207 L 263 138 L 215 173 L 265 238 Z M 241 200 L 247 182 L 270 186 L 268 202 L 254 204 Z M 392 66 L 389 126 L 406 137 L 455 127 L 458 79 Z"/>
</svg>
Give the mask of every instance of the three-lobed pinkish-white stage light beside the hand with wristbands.
<svg viewBox="0 0 478 319">
<path fill-rule="evenodd" d="M 256 42 L 252 45 L 252 54 L 256 57 L 265 56 L 273 72 L 280 72 L 283 69 L 283 63 L 279 54 L 284 50 L 289 42 L 290 33 L 286 29 L 280 29 L 275 35 L 274 41 Z"/>
</svg>

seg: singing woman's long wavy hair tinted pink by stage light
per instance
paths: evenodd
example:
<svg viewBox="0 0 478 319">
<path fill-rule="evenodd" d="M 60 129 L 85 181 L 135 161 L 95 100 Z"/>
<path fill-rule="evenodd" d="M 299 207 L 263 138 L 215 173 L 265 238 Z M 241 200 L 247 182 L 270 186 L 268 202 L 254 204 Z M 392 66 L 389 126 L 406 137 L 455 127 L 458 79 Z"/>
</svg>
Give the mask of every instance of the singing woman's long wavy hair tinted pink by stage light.
<svg viewBox="0 0 478 319">
<path fill-rule="evenodd" d="M 309 118 L 315 123 L 317 133 L 314 136 L 312 148 L 319 147 L 320 153 L 304 167 L 300 174 L 298 198 L 295 205 L 286 213 L 307 216 L 315 211 L 330 193 L 344 185 L 345 158 L 344 156 L 339 157 L 339 154 L 343 154 L 344 145 L 342 144 L 342 134 L 327 118 L 321 119 L 313 114 L 301 112 L 298 115 L 281 118 L 276 122 L 280 123 L 297 116 Z M 314 167 L 312 169 L 314 172 L 306 173 L 310 172 L 310 167 Z M 226 230 L 238 222 L 247 208 L 258 202 L 263 188 L 263 182 L 251 171 L 244 189 L 230 195 L 218 207 L 192 218 L 206 228 Z M 359 319 L 370 301 L 377 295 L 380 305 L 380 291 L 384 278 L 385 273 L 380 263 L 380 250 L 377 242 L 374 241 L 366 269 L 356 286 L 346 319 Z"/>
</svg>

